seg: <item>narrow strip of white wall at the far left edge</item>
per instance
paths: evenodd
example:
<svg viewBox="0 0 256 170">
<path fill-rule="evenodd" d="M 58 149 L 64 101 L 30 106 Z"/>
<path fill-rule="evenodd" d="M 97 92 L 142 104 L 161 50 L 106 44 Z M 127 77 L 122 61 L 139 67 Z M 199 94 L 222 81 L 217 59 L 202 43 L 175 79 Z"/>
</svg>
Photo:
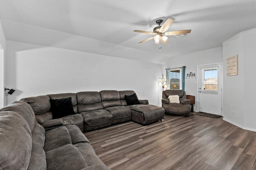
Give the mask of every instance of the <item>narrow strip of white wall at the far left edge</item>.
<svg viewBox="0 0 256 170">
<path fill-rule="evenodd" d="M 4 106 L 5 103 L 5 49 L 6 49 L 6 39 L 4 36 L 4 31 L 0 21 L 0 108 Z"/>
</svg>

